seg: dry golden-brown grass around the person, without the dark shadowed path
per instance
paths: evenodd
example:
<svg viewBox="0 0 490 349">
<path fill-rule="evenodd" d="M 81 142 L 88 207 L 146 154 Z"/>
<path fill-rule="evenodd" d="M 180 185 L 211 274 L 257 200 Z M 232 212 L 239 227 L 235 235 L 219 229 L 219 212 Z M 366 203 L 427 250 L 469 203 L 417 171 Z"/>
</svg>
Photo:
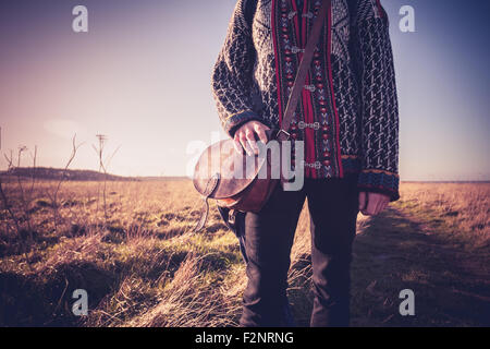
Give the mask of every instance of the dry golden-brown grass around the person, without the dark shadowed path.
<svg viewBox="0 0 490 349">
<path fill-rule="evenodd" d="M 54 225 L 54 208 L 47 192 L 54 190 L 56 183 L 37 183 L 27 207 L 35 229 L 29 251 L 21 249 L 22 237 L 1 207 L 0 305 L 9 317 L 0 315 L 0 323 L 236 325 L 246 285 L 237 241 L 212 208 L 207 229 L 191 232 L 200 204 L 191 181 L 108 182 L 108 218 L 102 208 L 101 185 L 63 183 L 58 194 L 60 221 Z M 392 206 L 392 212 L 418 219 L 417 229 L 422 230 L 428 221 L 440 219 L 444 224 L 441 229 L 452 227 L 460 237 L 485 245 L 489 237 L 489 184 L 403 183 L 402 200 Z M 9 183 L 5 193 L 14 212 L 25 208 L 16 204 L 16 183 Z M 308 219 L 304 209 L 289 275 L 289 294 L 299 324 L 307 324 L 310 309 Z M 383 227 L 389 229 L 390 225 L 391 220 L 387 220 Z M 359 215 L 358 233 L 372 229 L 380 228 Z M 369 270 L 356 267 L 354 273 L 363 273 L 364 277 Z M 89 316 L 83 320 L 70 311 L 71 292 L 76 288 L 86 288 L 90 297 Z M 35 316 L 28 313 L 33 309 Z M 360 309 L 359 305 L 354 312 Z"/>
</svg>

